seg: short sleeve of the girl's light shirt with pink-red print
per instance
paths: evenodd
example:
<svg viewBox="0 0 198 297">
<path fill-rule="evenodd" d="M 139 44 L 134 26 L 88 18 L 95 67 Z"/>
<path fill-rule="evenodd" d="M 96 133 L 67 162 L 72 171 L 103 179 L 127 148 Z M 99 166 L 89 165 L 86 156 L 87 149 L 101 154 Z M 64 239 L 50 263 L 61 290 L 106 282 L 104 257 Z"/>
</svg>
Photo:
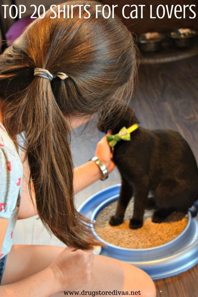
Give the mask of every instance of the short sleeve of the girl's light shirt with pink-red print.
<svg viewBox="0 0 198 297">
<path fill-rule="evenodd" d="M 19 156 L 0 147 L 0 217 L 9 219 L 17 207 L 23 165 Z"/>
</svg>

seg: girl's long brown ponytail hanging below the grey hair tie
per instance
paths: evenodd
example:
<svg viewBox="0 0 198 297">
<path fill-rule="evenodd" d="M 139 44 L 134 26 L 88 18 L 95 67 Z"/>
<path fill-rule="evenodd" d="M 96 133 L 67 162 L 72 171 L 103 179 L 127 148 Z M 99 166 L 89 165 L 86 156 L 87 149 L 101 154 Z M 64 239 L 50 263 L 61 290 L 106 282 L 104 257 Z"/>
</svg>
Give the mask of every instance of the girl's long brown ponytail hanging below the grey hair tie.
<svg viewBox="0 0 198 297">
<path fill-rule="evenodd" d="M 70 131 L 50 81 L 35 77 L 19 105 L 9 107 L 6 126 L 10 130 L 9 119 L 16 127 L 21 124 L 26 127 L 23 149 L 30 169 L 29 190 L 32 180 L 37 211 L 44 226 L 69 247 L 91 249 L 102 245 L 88 227 L 91 221 L 74 206 Z"/>
</svg>

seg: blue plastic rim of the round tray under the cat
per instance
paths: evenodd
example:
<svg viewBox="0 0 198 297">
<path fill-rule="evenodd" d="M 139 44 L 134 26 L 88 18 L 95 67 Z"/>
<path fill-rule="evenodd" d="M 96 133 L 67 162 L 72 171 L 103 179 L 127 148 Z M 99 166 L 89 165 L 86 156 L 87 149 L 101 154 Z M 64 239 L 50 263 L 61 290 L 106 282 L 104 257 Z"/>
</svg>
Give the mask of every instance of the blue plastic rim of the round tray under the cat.
<svg viewBox="0 0 198 297">
<path fill-rule="evenodd" d="M 119 197 L 121 184 L 108 187 L 88 198 L 78 211 L 95 220 L 107 204 Z M 94 235 L 106 244 L 101 255 L 112 257 L 146 271 L 153 280 L 172 277 L 198 263 L 198 200 L 188 211 L 188 223 L 179 236 L 166 244 L 148 249 L 128 249 L 109 244 L 100 238 L 91 225 Z"/>
</svg>

